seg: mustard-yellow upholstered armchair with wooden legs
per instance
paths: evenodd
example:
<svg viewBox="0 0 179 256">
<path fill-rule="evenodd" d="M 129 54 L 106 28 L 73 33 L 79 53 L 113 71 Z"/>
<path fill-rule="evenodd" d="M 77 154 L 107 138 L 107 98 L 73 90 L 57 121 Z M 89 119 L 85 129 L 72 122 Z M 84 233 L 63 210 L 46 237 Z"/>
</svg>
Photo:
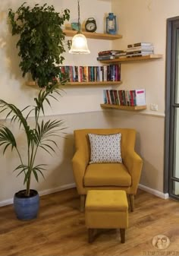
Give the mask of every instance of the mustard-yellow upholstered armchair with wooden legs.
<svg viewBox="0 0 179 256">
<path fill-rule="evenodd" d="M 121 133 L 123 163 L 92 163 L 88 134 Z M 75 153 L 72 159 L 74 179 L 80 194 L 80 210 L 84 210 L 86 193 L 93 189 L 120 189 L 127 192 L 134 209 L 134 195 L 140 181 L 143 160 L 134 151 L 136 131 L 128 128 L 81 129 L 74 131 Z"/>
</svg>

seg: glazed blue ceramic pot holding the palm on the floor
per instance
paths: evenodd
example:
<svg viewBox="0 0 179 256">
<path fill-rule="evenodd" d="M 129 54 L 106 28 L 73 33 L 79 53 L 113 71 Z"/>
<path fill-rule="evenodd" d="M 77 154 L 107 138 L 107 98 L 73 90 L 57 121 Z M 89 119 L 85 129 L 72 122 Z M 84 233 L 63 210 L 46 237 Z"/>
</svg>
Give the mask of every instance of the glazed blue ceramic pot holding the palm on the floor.
<svg viewBox="0 0 179 256">
<path fill-rule="evenodd" d="M 22 197 L 24 191 L 14 194 L 14 210 L 19 220 L 35 219 L 39 212 L 39 194 L 35 190 L 30 190 L 30 197 Z"/>
</svg>

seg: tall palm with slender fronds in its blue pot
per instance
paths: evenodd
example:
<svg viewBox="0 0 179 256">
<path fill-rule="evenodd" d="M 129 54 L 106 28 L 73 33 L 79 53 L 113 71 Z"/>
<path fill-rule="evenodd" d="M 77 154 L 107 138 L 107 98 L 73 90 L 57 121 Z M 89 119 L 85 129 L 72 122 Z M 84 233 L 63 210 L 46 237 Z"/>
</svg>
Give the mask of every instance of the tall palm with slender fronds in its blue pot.
<svg viewBox="0 0 179 256">
<path fill-rule="evenodd" d="M 44 103 L 50 105 L 49 98 L 56 99 L 55 94 L 60 94 L 58 84 L 50 84 L 45 90 L 40 90 L 39 95 L 34 99 L 34 106 L 27 106 L 20 110 L 14 104 L 7 103 L 5 100 L 0 100 L 0 112 L 7 112 L 6 117 L 11 115 L 11 122 L 18 122 L 20 130 L 24 132 L 27 140 L 27 157 L 24 161 L 20 150 L 18 149 L 17 141 L 13 131 L 8 126 L 0 126 L 0 147 L 4 147 L 3 154 L 11 147 L 11 150 L 16 150 L 20 164 L 14 169 L 18 175 L 24 175 L 24 185 L 26 189 L 18 191 L 14 195 L 14 209 L 17 213 L 17 218 L 21 220 L 33 219 L 37 216 L 39 210 L 39 194 L 37 191 L 30 189 L 32 175 L 36 182 L 39 182 L 39 175 L 43 175 L 46 169 L 45 164 L 36 165 L 36 154 L 39 149 L 45 150 L 46 153 L 55 152 L 57 143 L 55 136 L 60 136 L 59 131 L 64 129 L 63 121 L 48 120 L 44 121 L 40 118 L 40 113 L 44 114 Z M 29 110 L 28 110 L 29 109 Z M 27 111 L 28 110 L 28 111 Z M 30 127 L 28 116 L 34 114 L 34 125 Z M 42 119 L 40 121 L 40 119 Z M 23 153 L 24 154 L 24 153 Z"/>
</svg>

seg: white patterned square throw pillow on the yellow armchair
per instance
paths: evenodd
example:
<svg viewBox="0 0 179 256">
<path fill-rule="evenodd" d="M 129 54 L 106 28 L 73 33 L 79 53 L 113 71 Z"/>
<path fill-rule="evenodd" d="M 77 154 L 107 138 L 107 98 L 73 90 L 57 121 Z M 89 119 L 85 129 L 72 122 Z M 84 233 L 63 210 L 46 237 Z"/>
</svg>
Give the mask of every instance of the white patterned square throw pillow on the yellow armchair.
<svg viewBox="0 0 179 256">
<path fill-rule="evenodd" d="M 121 134 L 88 134 L 91 147 L 89 163 L 122 163 Z"/>
</svg>

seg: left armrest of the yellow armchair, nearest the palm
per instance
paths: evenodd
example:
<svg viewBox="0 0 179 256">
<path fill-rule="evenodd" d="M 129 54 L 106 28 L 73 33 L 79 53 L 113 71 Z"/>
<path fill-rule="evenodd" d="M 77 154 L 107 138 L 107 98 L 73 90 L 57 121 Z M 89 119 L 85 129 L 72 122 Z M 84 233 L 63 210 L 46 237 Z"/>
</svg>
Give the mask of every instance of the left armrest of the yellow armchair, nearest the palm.
<svg viewBox="0 0 179 256">
<path fill-rule="evenodd" d="M 87 157 L 82 151 L 77 150 L 72 159 L 72 166 L 78 194 L 86 194 L 86 190 L 83 188 L 83 177 L 87 165 Z"/>
</svg>

